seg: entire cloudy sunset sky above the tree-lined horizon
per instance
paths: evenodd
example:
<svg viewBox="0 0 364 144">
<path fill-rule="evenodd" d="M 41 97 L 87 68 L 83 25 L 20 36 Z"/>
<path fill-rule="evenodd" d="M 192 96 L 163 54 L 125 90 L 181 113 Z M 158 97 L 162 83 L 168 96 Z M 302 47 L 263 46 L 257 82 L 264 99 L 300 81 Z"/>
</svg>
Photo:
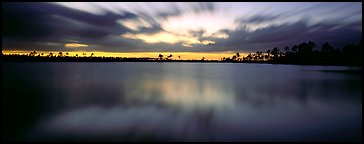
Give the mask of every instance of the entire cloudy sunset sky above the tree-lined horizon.
<svg viewBox="0 0 364 144">
<path fill-rule="evenodd" d="M 362 2 L 2 3 L 3 51 L 249 53 L 362 39 Z"/>
</svg>

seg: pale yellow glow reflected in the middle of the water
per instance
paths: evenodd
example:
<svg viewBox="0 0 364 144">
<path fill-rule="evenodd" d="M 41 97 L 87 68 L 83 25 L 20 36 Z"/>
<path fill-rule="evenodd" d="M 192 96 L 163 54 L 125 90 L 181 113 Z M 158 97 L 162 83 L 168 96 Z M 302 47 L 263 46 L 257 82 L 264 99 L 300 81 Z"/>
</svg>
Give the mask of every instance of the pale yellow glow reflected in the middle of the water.
<svg viewBox="0 0 364 144">
<path fill-rule="evenodd" d="M 224 108 L 234 105 L 234 93 L 229 85 L 216 81 L 195 81 L 185 77 L 166 76 L 160 82 L 155 79 L 144 79 L 135 91 L 128 93 L 128 98 L 159 99 L 161 103 L 183 109 Z"/>
</svg>

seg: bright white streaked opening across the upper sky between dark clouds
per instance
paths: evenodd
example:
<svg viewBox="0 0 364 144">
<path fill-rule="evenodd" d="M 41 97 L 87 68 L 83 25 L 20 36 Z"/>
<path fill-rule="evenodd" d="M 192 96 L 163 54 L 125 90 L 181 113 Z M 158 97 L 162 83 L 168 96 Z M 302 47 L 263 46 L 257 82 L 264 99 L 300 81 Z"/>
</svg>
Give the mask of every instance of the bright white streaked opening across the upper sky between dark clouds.
<svg viewBox="0 0 364 144">
<path fill-rule="evenodd" d="M 348 23 L 361 18 L 361 5 L 354 3 L 295 3 L 295 2 L 236 2 L 236 3 L 205 3 L 206 8 L 199 3 L 181 2 L 148 2 L 148 3 L 119 3 L 119 2 L 92 2 L 92 3 L 65 3 L 55 4 L 72 9 L 88 12 L 95 15 L 104 15 L 107 12 L 123 14 L 131 12 L 143 14 L 145 17 L 153 18 L 167 32 L 188 35 L 189 31 L 203 30 L 204 36 L 211 36 L 223 29 L 234 30 L 245 25 L 247 30 L 255 31 L 271 25 L 293 23 L 301 18 L 310 19 L 310 25 L 321 21 L 335 21 L 337 23 Z M 160 17 L 160 13 L 176 13 L 166 18 Z M 277 16 L 275 19 L 262 21 L 260 23 L 239 22 L 237 20 L 249 19 L 254 16 Z M 151 27 L 146 18 L 136 20 L 118 21 L 132 30 L 139 27 Z"/>
</svg>

